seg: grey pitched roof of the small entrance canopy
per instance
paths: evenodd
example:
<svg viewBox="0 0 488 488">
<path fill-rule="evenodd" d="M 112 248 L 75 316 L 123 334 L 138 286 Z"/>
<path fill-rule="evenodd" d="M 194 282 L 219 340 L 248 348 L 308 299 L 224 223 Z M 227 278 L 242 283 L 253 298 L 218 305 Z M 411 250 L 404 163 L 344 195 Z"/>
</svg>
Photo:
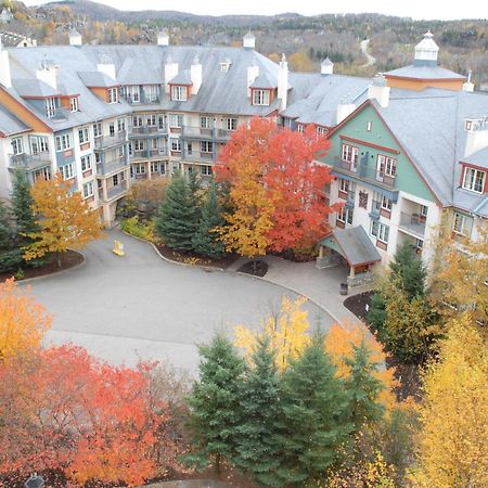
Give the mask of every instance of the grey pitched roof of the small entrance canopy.
<svg viewBox="0 0 488 488">
<path fill-rule="evenodd" d="M 361 226 L 334 229 L 319 245 L 341 254 L 349 266 L 370 265 L 382 260 L 380 253 Z"/>
</svg>

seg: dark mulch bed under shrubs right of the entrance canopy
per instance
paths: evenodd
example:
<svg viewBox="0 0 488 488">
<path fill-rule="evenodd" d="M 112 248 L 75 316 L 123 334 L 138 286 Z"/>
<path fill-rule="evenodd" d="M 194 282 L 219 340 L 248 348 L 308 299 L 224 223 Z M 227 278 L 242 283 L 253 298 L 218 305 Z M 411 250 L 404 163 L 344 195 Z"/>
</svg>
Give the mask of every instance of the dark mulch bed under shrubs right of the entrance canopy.
<svg viewBox="0 0 488 488">
<path fill-rule="evenodd" d="M 349 309 L 358 319 L 361 319 L 368 326 L 367 320 L 367 305 L 371 306 L 371 297 L 374 295 L 374 291 L 359 293 L 352 295 L 344 300 L 344 306 Z M 410 362 L 401 361 L 395 356 L 390 355 L 386 359 L 386 365 L 388 368 L 395 368 L 395 377 L 400 383 L 400 386 L 396 388 L 396 395 L 398 400 L 403 400 L 407 397 L 421 398 L 421 380 L 420 380 L 420 367 Z"/>
</svg>

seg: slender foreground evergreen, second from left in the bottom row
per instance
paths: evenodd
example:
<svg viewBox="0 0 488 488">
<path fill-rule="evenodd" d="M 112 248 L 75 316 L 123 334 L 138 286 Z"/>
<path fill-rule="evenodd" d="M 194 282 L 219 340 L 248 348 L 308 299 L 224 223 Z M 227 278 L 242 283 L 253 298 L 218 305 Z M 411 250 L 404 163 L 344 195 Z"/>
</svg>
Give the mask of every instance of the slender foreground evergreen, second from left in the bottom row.
<svg viewBox="0 0 488 488">
<path fill-rule="evenodd" d="M 282 411 L 280 376 L 269 337 L 259 339 L 252 363 L 240 391 L 242 421 L 236 428 L 236 455 L 232 461 L 257 484 L 272 486 L 281 461 L 275 433 Z"/>
</svg>

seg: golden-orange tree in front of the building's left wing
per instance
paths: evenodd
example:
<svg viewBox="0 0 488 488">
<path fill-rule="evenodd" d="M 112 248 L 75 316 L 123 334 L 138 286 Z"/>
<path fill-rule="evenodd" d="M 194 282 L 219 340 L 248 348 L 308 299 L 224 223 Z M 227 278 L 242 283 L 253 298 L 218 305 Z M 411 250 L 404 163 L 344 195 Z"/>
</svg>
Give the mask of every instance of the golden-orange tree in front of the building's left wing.
<svg viewBox="0 0 488 488">
<path fill-rule="evenodd" d="M 38 180 L 30 191 L 40 230 L 28 234 L 34 242 L 24 248 L 26 260 L 56 253 L 61 266 L 62 253 L 81 249 L 102 235 L 98 213 L 89 208 L 79 192 L 69 193 L 60 174 L 52 180 Z"/>
</svg>

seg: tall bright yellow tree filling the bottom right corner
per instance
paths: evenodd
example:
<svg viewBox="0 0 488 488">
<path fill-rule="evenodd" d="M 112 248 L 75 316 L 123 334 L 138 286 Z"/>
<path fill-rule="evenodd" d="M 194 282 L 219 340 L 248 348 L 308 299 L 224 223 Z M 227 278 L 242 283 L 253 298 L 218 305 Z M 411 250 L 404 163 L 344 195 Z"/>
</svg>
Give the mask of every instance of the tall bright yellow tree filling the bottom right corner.
<svg viewBox="0 0 488 488">
<path fill-rule="evenodd" d="M 487 342 L 467 313 L 452 320 L 424 375 L 415 488 L 488 486 Z"/>
</svg>

